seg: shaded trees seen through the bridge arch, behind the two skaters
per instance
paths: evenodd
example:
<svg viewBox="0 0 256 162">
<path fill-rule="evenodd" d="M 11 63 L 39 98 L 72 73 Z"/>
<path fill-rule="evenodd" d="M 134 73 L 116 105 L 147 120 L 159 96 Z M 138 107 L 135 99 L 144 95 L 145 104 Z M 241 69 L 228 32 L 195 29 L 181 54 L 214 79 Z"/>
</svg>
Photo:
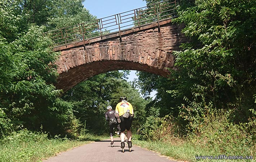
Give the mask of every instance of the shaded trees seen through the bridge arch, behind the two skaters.
<svg viewBox="0 0 256 162">
<path fill-rule="evenodd" d="M 112 71 L 103 73 L 70 89 L 63 97 L 74 104 L 75 116 L 81 123 L 81 128 L 94 134 L 107 133 L 109 126 L 105 120 L 106 107 L 115 106 L 120 96 L 127 96 L 134 108 L 134 129 L 144 122 L 146 101 L 138 90 L 125 80 L 127 71 Z"/>
</svg>

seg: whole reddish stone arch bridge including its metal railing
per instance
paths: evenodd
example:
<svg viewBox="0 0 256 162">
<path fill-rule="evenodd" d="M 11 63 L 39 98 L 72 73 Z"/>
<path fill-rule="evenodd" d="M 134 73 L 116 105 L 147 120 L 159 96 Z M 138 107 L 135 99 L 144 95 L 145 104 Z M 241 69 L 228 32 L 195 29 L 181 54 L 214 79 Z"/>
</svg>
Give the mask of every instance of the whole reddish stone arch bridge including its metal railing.
<svg viewBox="0 0 256 162">
<path fill-rule="evenodd" d="M 67 91 L 92 76 L 121 69 L 167 77 L 167 68 L 175 69 L 172 51 L 188 41 L 181 33 L 184 25 L 172 23 L 178 5 L 179 0 L 161 1 L 45 33 L 61 53 L 57 89 Z"/>
</svg>

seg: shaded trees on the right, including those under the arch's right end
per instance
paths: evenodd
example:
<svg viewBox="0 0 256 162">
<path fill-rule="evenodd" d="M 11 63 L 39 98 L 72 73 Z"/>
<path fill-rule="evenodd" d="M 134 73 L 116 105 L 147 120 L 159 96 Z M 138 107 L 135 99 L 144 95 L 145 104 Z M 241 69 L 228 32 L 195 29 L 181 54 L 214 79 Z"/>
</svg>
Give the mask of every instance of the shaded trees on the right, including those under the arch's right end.
<svg viewBox="0 0 256 162">
<path fill-rule="evenodd" d="M 174 135 L 199 135 L 209 116 L 221 112 L 227 125 L 242 124 L 248 139 L 255 141 L 255 6 L 253 0 L 180 1 L 179 17 L 173 22 L 186 25 L 182 32 L 191 41 L 173 52 L 178 70 L 170 69 L 168 79 L 138 72 L 142 93 L 158 92 L 146 107 L 154 108 L 158 116 L 147 116 L 141 134 L 149 134 L 148 123 L 156 124 L 160 117 L 159 127 L 166 120 L 176 125 Z"/>
</svg>

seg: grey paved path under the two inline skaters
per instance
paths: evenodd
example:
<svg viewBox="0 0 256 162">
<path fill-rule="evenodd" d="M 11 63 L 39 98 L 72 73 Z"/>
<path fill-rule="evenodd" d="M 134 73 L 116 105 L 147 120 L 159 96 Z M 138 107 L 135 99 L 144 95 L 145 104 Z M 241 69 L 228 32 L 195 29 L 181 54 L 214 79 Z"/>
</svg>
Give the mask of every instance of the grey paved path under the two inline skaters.
<svg viewBox="0 0 256 162">
<path fill-rule="evenodd" d="M 43 162 L 175 162 L 134 145 L 129 152 L 126 143 L 123 153 L 120 143 L 120 138 L 114 138 L 114 147 L 110 146 L 110 140 L 97 141 L 62 152 Z"/>
</svg>

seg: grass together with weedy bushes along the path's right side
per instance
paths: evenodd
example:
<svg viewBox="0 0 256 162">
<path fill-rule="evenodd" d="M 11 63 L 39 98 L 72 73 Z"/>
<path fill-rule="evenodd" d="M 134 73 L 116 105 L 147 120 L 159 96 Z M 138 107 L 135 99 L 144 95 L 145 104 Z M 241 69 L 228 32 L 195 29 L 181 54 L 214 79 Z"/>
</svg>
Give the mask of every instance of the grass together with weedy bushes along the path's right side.
<svg viewBox="0 0 256 162">
<path fill-rule="evenodd" d="M 171 159 L 215 162 L 256 162 L 255 131 L 256 120 L 249 123 L 234 124 L 225 114 L 208 116 L 202 132 L 190 134 L 186 138 L 174 134 L 173 123 L 165 122 L 155 131 L 154 140 L 138 140 L 134 144 L 158 152 Z M 164 131 L 163 131 L 164 130 Z M 163 133 L 164 132 L 164 133 Z M 160 135 L 162 134 L 162 136 Z M 176 137 L 175 137 L 176 136 Z M 157 140 L 156 140 L 157 139 Z M 195 156 L 253 156 L 253 159 L 196 159 Z"/>
</svg>

